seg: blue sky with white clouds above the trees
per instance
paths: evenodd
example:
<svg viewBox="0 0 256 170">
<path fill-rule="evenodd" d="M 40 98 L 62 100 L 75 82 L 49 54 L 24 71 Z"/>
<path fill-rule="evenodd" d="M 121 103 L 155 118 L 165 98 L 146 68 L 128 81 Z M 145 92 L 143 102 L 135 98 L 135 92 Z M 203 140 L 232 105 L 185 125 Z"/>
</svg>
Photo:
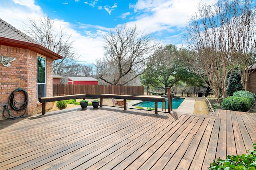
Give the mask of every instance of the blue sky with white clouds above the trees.
<svg viewBox="0 0 256 170">
<path fill-rule="evenodd" d="M 151 33 L 163 45 L 181 47 L 188 18 L 195 14 L 198 3 L 198 0 L 0 0 L 0 18 L 24 32 L 26 18 L 48 15 L 54 20 L 56 30 L 61 25 L 72 35 L 79 60 L 88 64 L 104 56 L 102 35 L 125 23 Z"/>
</svg>

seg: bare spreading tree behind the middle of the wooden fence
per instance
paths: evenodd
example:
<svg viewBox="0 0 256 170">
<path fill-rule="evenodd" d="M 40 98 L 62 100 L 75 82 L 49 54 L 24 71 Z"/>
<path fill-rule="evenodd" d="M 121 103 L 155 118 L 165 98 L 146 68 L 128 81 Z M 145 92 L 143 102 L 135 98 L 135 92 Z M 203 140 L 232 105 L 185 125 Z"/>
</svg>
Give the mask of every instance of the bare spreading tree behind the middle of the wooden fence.
<svg viewBox="0 0 256 170">
<path fill-rule="evenodd" d="M 96 60 L 95 66 L 99 78 L 108 84 L 127 84 L 153 64 L 150 60 L 158 44 L 151 35 L 140 33 L 136 26 L 116 27 L 104 39 L 104 58 Z"/>
</svg>

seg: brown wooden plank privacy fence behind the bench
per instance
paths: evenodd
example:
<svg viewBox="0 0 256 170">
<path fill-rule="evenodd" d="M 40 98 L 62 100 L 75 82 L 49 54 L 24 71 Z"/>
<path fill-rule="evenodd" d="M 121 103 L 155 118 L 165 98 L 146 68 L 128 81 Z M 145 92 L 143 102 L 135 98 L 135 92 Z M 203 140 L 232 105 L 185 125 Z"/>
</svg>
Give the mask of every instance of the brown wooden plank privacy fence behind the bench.
<svg viewBox="0 0 256 170">
<path fill-rule="evenodd" d="M 143 95 L 144 86 L 108 86 L 108 85 L 84 85 L 84 84 L 53 84 L 53 96 L 65 96 L 73 94 L 120 94 Z"/>
</svg>

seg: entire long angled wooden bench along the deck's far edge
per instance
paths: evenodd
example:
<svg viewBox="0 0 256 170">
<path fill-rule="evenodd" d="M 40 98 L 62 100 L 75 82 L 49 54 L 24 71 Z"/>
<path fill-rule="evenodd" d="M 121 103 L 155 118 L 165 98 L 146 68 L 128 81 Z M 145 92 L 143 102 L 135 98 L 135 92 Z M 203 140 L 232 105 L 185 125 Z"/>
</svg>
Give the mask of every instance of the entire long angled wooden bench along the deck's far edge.
<svg viewBox="0 0 256 170">
<path fill-rule="evenodd" d="M 100 98 L 100 107 L 103 105 L 103 98 L 115 98 L 115 99 L 123 99 L 124 100 L 124 109 L 126 110 L 126 100 L 142 100 L 155 102 L 155 113 L 157 114 L 158 104 L 157 102 L 162 102 L 162 111 L 163 111 L 163 102 L 165 102 L 164 97 L 150 97 L 150 96 L 130 96 L 130 95 L 118 95 L 118 94 L 74 94 L 67 96 L 52 96 L 52 97 L 44 97 L 39 98 L 39 102 L 42 103 L 42 115 L 46 112 L 46 103 L 47 102 L 55 102 L 60 100 L 69 100 L 69 99 L 85 99 L 85 98 Z"/>
</svg>

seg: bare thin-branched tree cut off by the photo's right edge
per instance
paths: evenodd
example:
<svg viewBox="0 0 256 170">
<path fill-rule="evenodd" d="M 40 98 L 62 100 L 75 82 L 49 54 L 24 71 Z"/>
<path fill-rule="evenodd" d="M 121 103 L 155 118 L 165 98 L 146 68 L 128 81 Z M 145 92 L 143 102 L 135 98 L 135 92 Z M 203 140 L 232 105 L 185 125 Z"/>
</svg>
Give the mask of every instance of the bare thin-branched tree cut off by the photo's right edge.
<svg viewBox="0 0 256 170">
<path fill-rule="evenodd" d="M 244 90 L 248 90 L 249 75 L 253 71 L 252 66 L 256 63 L 256 4 L 246 0 L 242 5 L 242 11 L 236 20 L 236 45 L 238 46 L 237 56 L 241 83 Z"/>
</svg>

